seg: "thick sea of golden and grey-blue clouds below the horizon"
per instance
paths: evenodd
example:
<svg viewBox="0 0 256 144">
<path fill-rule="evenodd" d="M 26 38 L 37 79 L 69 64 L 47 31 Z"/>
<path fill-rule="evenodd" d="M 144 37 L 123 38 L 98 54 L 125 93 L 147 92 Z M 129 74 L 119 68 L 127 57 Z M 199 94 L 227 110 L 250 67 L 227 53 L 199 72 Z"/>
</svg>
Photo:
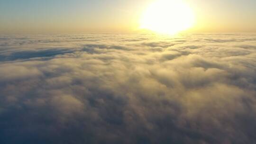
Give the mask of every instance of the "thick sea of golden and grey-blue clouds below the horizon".
<svg viewBox="0 0 256 144">
<path fill-rule="evenodd" d="M 256 144 L 256 34 L 0 35 L 0 144 Z"/>
</svg>

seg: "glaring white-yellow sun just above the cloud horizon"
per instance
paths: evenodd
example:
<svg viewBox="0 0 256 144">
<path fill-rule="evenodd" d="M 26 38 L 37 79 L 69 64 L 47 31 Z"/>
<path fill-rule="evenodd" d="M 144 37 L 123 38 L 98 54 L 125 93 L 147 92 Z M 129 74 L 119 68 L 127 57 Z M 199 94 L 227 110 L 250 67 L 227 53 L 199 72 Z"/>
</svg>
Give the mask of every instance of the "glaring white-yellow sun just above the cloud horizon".
<svg viewBox="0 0 256 144">
<path fill-rule="evenodd" d="M 194 24 L 192 9 L 182 0 L 157 0 L 142 15 L 140 28 L 163 34 L 176 34 Z"/>
</svg>

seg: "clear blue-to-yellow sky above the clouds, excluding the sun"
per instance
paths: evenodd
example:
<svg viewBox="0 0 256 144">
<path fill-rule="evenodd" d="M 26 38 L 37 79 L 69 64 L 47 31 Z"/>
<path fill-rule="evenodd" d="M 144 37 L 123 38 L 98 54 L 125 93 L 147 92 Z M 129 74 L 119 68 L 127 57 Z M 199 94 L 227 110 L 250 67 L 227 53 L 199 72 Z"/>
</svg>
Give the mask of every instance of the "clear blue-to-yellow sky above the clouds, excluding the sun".
<svg viewBox="0 0 256 144">
<path fill-rule="evenodd" d="M 0 33 L 131 32 L 154 0 L 0 0 Z M 256 32 L 256 0 L 186 0 L 195 32 Z"/>
</svg>

